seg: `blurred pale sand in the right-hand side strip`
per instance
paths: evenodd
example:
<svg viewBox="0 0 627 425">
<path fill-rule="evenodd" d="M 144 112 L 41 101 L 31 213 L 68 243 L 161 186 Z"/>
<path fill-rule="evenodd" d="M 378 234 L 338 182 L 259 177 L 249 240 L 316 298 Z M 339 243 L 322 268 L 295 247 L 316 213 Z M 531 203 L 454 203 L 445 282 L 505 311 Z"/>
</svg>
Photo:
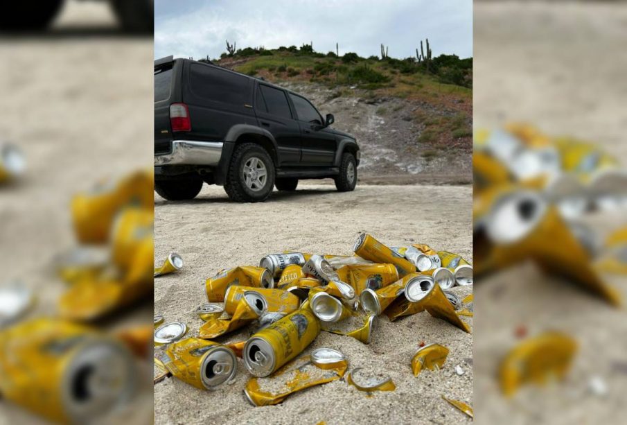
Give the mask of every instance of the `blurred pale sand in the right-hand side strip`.
<svg viewBox="0 0 627 425">
<path fill-rule="evenodd" d="M 529 121 L 549 134 L 597 141 L 625 164 L 626 23 L 622 2 L 475 2 L 475 128 Z M 586 221 L 603 234 L 627 220 L 620 211 Z M 627 295 L 625 281 L 610 284 Z M 624 422 L 624 309 L 547 279 L 532 264 L 477 279 L 476 298 L 479 423 Z M 495 381 L 497 364 L 521 325 L 530 336 L 565 331 L 580 349 L 565 383 L 527 388 L 505 401 Z M 607 393 L 592 392 L 592 379 L 605 383 Z"/>
</svg>

